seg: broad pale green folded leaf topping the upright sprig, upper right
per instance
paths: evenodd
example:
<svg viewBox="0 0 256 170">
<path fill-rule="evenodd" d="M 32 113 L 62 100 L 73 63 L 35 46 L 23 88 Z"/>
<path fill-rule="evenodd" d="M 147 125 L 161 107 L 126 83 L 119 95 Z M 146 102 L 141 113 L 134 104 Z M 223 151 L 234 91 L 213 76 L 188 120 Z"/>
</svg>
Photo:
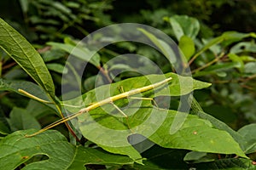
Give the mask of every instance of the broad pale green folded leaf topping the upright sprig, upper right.
<svg viewBox="0 0 256 170">
<path fill-rule="evenodd" d="M 187 15 L 174 15 L 169 21 L 178 41 L 180 41 L 183 35 L 195 39 L 200 31 L 199 21 Z"/>
</svg>

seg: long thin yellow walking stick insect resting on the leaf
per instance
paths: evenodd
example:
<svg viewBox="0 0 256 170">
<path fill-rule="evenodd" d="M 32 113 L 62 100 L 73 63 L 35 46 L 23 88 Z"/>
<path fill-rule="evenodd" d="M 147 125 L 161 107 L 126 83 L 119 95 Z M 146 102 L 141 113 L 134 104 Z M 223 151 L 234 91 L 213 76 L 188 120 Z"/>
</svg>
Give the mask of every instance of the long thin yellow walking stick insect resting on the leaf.
<svg viewBox="0 0 256 170">
<path fill-rule="evenodd" d="M 151 85 L 148 85 L 148 86 L 145 86 L 145 87 L 142 87 L 142 88 L 132 89 L 132 90 L 124 92 L 122 94 L 117 94 L 117 95 L 114 95 L 114 96 L 109 97 L 107 99 L 102 99 L 101 101 L 93 103 L 92 105 L 89 105 L 89 106 L 81 109 L 80 111 L 78 111 L 76 113 L 73 113 L 70 116 L 66 116 L 66 117 L 61 118 L 60 120 L 58 120 L 56 122 L 53 122 L 53 123 L 49 124 L 49 126 L 42 128 L 41 130 L 39 130 L 36 133 L 32 133 L 32 134 L 26 135 L 26 137 L 32 137 L 32 136 L 37 135 L 38 133 L 43 133 L 44 131 L 48 130 L 51 127 L 55 127 L 55 126 L 57 126 L 57 125 L 59 125 L 59 124 L 61 124 L 63 122 L 67 122 L 67 121 L 69 121 L 69 120 L 71 120 L 71 119 L 73 119 L 73 118 L 75 118 L 75 117 L 77 117 L 77 116 L 79 116 L 79 115 L 81 115 L 81 114 L 83 114 L 85 112 L 89 112 L 91 110 L 96 109 L 97 107 L 100 107 L 100 106 L 106 105 L 106 104 L 112 104 L 123 116 L 127 117 L 125 115 L 125 113 L 123 111 L 121 111 L 117 105 L 113 104 L 114 101 L 119 100 L 119 99 L 131 98 L 132 95 L 140 94 L 140 93 L 152 90 L 154 88 L 159 88 L 161 85 L 164 85 L 164 84 L 170 82 L 171 80 L 172 80 L 172 77 L 169 77 L 169 78 L 166 78 L 163 81 L 156 82 L 154 84 L 151 84 Z M 21 93 L 23 93 L 23 94 L 26 94 L 26 95 L 32 95 L 32 94 L 27 94 L 23 90 L 19 90 L 19 91 Z M 134 99 L 150 99 L 150 100 L 153 100 L 151 98 L 134 98 Z"/>
</svg>

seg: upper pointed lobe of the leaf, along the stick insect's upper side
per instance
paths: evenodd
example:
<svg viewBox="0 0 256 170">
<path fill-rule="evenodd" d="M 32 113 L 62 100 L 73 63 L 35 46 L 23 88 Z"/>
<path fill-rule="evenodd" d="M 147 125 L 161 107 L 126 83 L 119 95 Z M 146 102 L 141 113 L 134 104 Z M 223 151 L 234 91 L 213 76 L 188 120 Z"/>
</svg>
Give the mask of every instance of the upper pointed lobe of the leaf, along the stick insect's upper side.
<svg viewBox="0 0 256 170">
<path fill-rule="evenodd" d="M 160 82 L 168 77 L 172 77 L 172 80 L 170 81 L 168 88 L 159 88 L 158 90 L 154 91 L 154 94 L 152 93 L 151 90 L 149 92 L 146 92 L 145 94 L 148 94 L 148 96 L 151 97 L 157 97 L 160 95 L 180 96 L 184 94 L 189 94 L 190 92 L 196 89 L 207 88 L 211 86 L 211 83 L 201 82 L 193 79 L 192 77 L 179 76 L 175 73 L 167 73 L 165 76 L 148 75 L 145 77 L 132 77 L 121 82 L 103 85 L 99 88 L 91 90 L 86 94 L 83 94 L 84 103 L 85 105 L 89 105 L 101 99 L 106 99 L 113 95 L 120 94 L 120 88 L 123 88 L 126 92 L 134 88 L 143 88 L 155 82 Z M 77 104 L 81 103 L 81 101 L 78 102 L 77 99 L 74 99 L 74 101 Z M 73 103 L 73 105 L 75 105 L 75 103 Z"/>
</svg>

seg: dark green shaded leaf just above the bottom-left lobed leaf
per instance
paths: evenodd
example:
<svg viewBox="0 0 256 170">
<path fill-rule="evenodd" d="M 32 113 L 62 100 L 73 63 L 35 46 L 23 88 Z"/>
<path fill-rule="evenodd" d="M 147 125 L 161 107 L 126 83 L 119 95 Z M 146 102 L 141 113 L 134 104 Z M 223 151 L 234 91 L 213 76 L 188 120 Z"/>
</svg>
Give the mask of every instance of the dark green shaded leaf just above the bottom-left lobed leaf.
<svg viewBox="0 0 256 170">
<path fill-rule="evenodd" d="M 25 109 L 13 108 L 9 115 L 9 127 L 14 132 L 17 130 L 26 130 L 29 128 L 41 129 L 39 122 Z"/>
</svg>

